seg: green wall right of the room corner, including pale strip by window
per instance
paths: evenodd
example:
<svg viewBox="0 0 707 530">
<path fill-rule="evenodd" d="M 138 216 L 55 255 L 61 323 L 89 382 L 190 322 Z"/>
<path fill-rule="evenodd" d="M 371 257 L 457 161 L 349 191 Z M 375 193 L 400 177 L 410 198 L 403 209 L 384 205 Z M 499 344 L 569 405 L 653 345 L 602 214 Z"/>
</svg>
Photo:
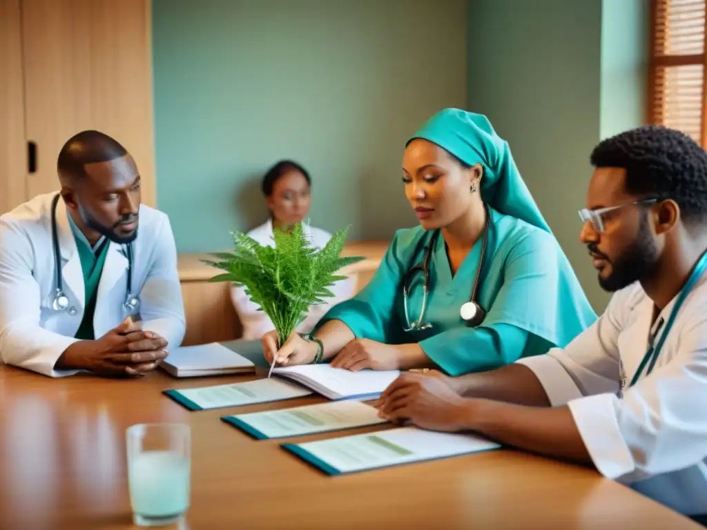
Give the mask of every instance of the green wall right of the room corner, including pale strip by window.
<svg viewBox="0 0 707 530">
<path fill-rule="evenodd" d="M 513 150 L 585 292 L 602 311 L 577 215 L 600 139 L 643 124 L 648 0 L 469 0 L 469 110 Z"/>
</svg>

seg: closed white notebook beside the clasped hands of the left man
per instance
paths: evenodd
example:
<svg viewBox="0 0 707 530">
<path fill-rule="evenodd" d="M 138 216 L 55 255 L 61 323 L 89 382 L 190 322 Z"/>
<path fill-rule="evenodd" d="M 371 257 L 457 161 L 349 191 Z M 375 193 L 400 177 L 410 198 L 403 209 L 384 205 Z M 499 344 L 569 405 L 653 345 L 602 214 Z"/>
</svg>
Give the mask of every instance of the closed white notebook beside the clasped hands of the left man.
<svg viewBox="0 0 707 530">
<path fill-rule="evenodd" d="M 255 372 L 252 361 L 216 342 L 170 349 L 160 368 L 173 377 Z"/>
</svg>

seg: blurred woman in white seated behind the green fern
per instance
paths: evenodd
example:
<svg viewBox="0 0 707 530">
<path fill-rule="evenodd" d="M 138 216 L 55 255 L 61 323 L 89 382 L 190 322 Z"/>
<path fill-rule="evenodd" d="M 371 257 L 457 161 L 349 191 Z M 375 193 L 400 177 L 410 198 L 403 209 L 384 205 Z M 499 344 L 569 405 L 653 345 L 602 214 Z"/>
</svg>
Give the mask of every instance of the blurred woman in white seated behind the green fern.
<svg viewBox="0 0 707 530">
<path fill-rule="evenodd" d="M 311 204 L 311 184 L 312 179 L 307 170 L 292 160 L 280 160 L 272 166 L 262 180 L 262 192 L 267 200 L 270 216 L 265 223 L 247 232 L 247 235 L 260 245 L 274 245 L 274 228 L 288 230 L 307 217 Z M 332 237 L 326 230 L 306 223 L 303 223 L 303 228 L 312 247 L 323 248 Z M 334 293 L 334 298 L 329 298 L 324 304 L 312 305 L 296 331 L 309 333 L 333 305 L 354 295 L 355 286 L 355 275 L 332 285 L 330 290 Z M 243 325 L 243 338 L 259 339 L 275 328 L 267 314 L 259 311 L 259 306 L 245 294 L 245 288 L 233 285 L 230 298 Z"/>
</svg>

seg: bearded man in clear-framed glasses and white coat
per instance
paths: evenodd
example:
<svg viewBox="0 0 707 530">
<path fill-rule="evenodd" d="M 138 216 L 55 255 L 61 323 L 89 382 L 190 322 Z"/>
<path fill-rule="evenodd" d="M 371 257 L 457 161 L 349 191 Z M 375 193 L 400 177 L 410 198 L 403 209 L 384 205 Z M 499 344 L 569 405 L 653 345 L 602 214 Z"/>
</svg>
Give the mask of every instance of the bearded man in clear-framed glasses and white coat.
<svg viewBox="0 0 707 530">
<path fill-rule="evenodd" d="M 402 375 L 377 406 L 594 466 L 704 522 L 707 153 L 643 126 L 602 141 L 591 161 L 580 237 L 614 292 L 604 314 L 566 348 L 498 370 Z"/>
</svg>

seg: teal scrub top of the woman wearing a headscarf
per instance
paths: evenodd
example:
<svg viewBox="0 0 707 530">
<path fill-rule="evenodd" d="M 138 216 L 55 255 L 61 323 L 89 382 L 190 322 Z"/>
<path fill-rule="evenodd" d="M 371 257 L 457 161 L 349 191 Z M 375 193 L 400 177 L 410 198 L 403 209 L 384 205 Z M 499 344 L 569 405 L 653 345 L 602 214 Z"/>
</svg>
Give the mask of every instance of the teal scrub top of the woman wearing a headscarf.
<svg viewBox="0 0 707 530">
<path fill-rule="evenodd" d="M 483 240 L 480 237 L 452 276 L 444 238 L 438 237 L 431 259 L 430 292 L 423 323 L 430 329 L 404 331 L 407 322 L 402 282 L 423 259 L 432 232 L 420 226 L 398 230 L 370 283 L 340 302 L 317 324 L 337 319 L 357 338 L 387 344 L 419 343 L 449 375 L 491 370 L 518 358 L 566 346 L 595 322 L 596 314 L 578 281 L 566 269 L 558 242 L 547 230 L 491 208 L 489 241 L 479 276 L 478 300 L 486 318 L 467 327 L 460 307 L 468 302 Z M 408 310 L 419 318 L 423 273 L 411 282 Z"/>
</svg>

